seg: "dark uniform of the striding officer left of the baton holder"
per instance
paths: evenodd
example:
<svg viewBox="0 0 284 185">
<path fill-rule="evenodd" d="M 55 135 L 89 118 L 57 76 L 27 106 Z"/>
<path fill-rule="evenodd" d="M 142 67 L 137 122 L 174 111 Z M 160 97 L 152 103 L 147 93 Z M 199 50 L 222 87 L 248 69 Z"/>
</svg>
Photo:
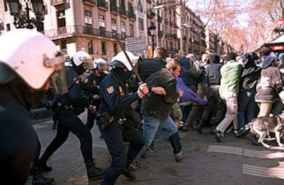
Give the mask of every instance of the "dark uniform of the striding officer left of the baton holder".
<svg viewBox="0 0 284 185">
<path fill-rule="evenodd" d="M 66 75 L 69 93 L 54 97 L 56 103 L 54 114 L 56 114 L 58 121 L 57 133 L 41 156 L 40 163 L 46 164 L 47 159 L 67 140 L 69 133 L 72 132 L 80 140 L 80 149 L 88 173 L 88 167 L 93 166 L 92 136 L 78 115 L 84 112 L 84 109 L 88 108 L 90 104 L 80 89 L 80 79 L 78 78 L 80 73 L 76 70 L 76 66 L 67 69 Z M 88 178 L 90 180 L 89 174 Z"/>
</svg>

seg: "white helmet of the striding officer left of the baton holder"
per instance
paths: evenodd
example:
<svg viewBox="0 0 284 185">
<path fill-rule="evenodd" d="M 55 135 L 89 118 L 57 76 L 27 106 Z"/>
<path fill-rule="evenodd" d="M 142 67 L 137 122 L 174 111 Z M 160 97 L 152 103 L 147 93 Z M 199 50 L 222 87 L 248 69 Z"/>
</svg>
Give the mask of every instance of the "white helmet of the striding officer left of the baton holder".
<svg viewBox="0 0 284 185">
<path fill-rule="evenodd" d="M 73 62 L 76 66 L 83 64 L 84 69 L 93 69 L 93 60 L 86 51 L 77 51 L 73 56 Z"/>
</svg>

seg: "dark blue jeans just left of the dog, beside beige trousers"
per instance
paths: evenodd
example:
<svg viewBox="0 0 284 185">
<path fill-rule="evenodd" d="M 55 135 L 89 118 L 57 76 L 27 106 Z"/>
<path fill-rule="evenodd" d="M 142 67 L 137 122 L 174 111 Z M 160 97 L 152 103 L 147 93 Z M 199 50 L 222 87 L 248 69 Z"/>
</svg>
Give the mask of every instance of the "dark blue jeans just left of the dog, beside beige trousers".
<svg viewBox="0 0 284 185">
<path fill-rule="evenodd" d="M 246 123 L 249 123 L 255 118 L 255 93 L 256 90 L 242 90 L 239 92 L 239 97 L 237 99 L 239 106 L 239 111 L 237 113 L 239 128 L 244 128 Z"/>
</svg>

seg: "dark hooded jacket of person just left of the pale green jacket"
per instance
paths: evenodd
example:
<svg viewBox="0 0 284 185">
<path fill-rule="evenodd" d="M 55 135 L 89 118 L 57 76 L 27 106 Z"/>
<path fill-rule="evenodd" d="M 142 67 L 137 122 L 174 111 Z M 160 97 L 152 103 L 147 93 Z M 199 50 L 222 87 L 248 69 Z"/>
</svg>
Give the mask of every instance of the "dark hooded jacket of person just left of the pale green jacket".
<svg viewBox="0 0 284 185">
<path fill-rule="evenodd" d="M 216 53 L 212 53 L 209 57 L 209 60 L 210 64 L 207 66 L 209 86 L 220 85 L 220 68 L 222 66 L 220 63 L 220 56 Z"/>
</svg>

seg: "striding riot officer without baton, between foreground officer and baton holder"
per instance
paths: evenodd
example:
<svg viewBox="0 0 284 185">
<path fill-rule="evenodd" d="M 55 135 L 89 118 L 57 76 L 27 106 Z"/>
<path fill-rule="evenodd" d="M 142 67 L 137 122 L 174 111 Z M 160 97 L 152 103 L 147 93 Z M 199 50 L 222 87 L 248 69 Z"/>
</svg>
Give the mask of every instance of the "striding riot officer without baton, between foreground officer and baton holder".
<svg viewBox="0 0 284 185">
<path fill-rule="evenodd" d="M 95 167 L 93 162 L 92 136 L 88 127 L 79 119 L 78 115 L 85 108 L 94 111 L 80 89 L 80 75 L 93 68 L 91 57 L 85 51 L 78 51 L 73 56 L 73 66 L 67 69 L 67 84 L 69 93 L 54 97 L 56 120 L 58 121 L 56 137 L 48 145 L 40 158 L 40 164 L 47 166 L 47 159 L 67 140 L 72 132 L 80 140 L 80 149 L 86 164 L 88 180 L 97 180 L 104 176 L 105 170 Z"/>
</svg>

